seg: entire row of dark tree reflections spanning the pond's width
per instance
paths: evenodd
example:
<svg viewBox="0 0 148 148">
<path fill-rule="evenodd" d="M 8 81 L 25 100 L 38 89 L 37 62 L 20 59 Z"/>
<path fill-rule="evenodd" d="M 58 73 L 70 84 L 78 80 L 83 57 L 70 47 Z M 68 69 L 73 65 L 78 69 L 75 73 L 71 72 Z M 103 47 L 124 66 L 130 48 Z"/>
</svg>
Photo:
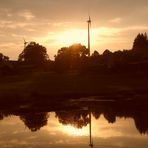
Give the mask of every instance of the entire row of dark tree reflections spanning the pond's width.
<svg viewBox="0 0 148 148">
<path fill-rule="evenodd" d="M 59 122 L 64 125 L 72 125 L 77 128 L 82 128 L 83 126 L 87 126 L 89 124 L 89 111 L 81 110 L 82 107 L 90 108 L 92 115 L 95 119 L 99 119 L 100 115 L 104 115 L 105 119 L 109 123 L 114 123 L 117 117 L 124 117 L 124 118 L 133 118 L 135 121 L 135 126 L 137 130 L 141 134 L 148 134 L 148 108 L 147 102 L 144 100 L 140 101 L 111 101 L 111 102 L 100 102 L 100 101 L 92 101 L 92 102 L 85 102 L 85 103 L 78 103 L 73 106 L 80 110 L 71 111 L 66 110 L 64 106 L 66 102 L 63 101 L 62 110 L 65 111 L 56 111 L 56 117 L 58 118 Z M 41 104 L 40 104 L 41 105 Z M 10 115 L 17 115 L 20 116 L 20 119 L 24 122 L 24 124 L 31 130 L 37 131 L 41 127 L 47 124 L 48 114 L 49 111 L 47 109 L 48 103 L 42 104 L 44 106 L 44 113 L 35 113 L 34 108 L 30 108 L 30 114 L 22 114 L 22 111 L 19 112 L 19 107 L 14 110 L 13 108 L 4 107 L 1 105 L 0 110 L 0 120 L 3 120 L 4 117 Z M 67 104 L 66 104 L 67 106 Z M 37 106 L 36 106 L 37 107 Z M 32 110 L 32 111 L 31 111 Z M 28 111 L 27 111 L 28 112 Z"/>
</svg>

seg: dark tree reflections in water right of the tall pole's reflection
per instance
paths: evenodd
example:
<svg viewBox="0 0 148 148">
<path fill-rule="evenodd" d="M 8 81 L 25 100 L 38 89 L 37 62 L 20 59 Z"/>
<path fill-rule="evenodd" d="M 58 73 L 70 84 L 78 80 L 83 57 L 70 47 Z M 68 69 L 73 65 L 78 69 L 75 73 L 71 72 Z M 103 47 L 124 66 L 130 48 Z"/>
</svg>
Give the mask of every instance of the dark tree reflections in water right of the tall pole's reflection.
<svg viewBox="0 0 148 148">
<path fill-rule="evenodd" d="M 137 130 L 141 134 L 148 134 L 148 119 L 147 119 L 148 111 L 146 108 L 147 103 L 142 103 L 142 102 L 140 103 L 141 103 L 140 106 L 134 105 L 134 102 L 133 105 L 131 103 L 130 104 L 116 103 L 116 105 L 104 104 L 101 105 L 101 107 L 97 107 L 97 105 L 94 105 L 92 114 L 96 119 L 99 119 L 100 115 L 103 114 L 105 119 L 109 123 L 115 123 L 117 117 L 133 118 Z"/>
</svg>

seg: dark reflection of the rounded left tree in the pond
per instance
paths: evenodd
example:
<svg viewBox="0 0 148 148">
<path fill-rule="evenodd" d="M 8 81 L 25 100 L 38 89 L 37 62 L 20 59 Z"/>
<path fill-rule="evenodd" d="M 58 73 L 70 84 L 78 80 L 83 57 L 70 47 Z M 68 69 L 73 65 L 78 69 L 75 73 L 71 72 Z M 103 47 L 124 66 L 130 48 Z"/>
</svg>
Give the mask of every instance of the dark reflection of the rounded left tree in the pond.
<svg viewBox="0 0 148 148">
<path fill-rule="evenodd" d="M 20 119 L 32 132 L 35 132 L 41 127 L 47 125 L 48 113 L 25 114 L 21 115 Z"/>
</svg>

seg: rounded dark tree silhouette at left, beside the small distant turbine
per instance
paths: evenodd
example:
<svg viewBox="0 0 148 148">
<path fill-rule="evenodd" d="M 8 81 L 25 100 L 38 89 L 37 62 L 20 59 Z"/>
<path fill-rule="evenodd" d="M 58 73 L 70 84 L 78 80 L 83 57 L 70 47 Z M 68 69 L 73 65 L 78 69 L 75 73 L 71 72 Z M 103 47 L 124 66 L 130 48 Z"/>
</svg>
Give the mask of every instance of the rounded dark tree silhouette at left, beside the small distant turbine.
<svg viewBox="0 0 148 148">
<path fill-rule="evenodd" d="M 47 50 L 36 42 L 30 42 L 19 55 L 18 60 L 28 64 L 43 64 L 48 60 Z"/>
</svg>

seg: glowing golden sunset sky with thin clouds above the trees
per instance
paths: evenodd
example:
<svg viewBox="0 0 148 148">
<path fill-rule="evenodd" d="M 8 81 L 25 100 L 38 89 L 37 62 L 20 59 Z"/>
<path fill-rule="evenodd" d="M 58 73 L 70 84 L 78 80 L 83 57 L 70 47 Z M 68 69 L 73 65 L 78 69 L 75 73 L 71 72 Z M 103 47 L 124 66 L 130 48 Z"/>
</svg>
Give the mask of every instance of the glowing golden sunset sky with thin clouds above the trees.
<svg viewBox="0 0 148 148">
<path fill-rule="evenodd" d="M 0 52 L 17 59 L 23 38 L 44 45 L 51 59 L 63 46 L 87 46 L 88 15 L 91 52 L 130 49 L 148 31 L 147 0 L 0 0 Z"/>
</svg>

